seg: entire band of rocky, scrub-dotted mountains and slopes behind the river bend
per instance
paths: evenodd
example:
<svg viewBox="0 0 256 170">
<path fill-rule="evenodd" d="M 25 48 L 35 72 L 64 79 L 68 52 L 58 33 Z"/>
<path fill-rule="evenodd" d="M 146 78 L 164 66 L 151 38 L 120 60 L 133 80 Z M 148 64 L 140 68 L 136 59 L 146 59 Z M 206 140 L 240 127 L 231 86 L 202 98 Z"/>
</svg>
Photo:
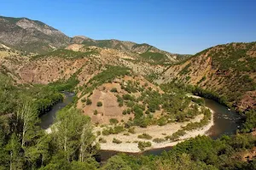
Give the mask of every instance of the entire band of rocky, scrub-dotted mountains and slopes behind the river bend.
<svg viewBox="0 0 256 170">
<path fill-rule="evenodd" d="M 145 43 L 70 38 L 40 21 L 8 17 L 0 17 L 0 42 L 1 71 L 20 82 L 67 80 L 79 71 L 83 83 L 106 65 L 121 65 L 143 76 L 162 73 L 159 83 L 176 80 L 216 92 L 240 111 L 256 105 L 255 42 L 218 45 L 188 59 Z M 32 57 L 24 51 L 51 52 Z"/>
</svg>

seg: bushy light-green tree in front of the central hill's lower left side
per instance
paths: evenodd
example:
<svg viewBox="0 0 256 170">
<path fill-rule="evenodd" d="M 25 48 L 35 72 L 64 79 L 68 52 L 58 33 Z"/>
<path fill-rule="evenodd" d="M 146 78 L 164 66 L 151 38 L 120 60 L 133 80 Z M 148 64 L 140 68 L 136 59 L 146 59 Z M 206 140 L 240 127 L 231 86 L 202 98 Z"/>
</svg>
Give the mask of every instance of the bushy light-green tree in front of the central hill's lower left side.
<svg viewBox="0 0 256 170">
<path fill-rule="evenodd" d="M 67 161 L 74 160 L 78 152 L 80 161 L 96 153 L 90 117 L 83 116 L 77 109 L 60 111 L 53 132 L 58 150 L 64 150 Z"/>
</svg>

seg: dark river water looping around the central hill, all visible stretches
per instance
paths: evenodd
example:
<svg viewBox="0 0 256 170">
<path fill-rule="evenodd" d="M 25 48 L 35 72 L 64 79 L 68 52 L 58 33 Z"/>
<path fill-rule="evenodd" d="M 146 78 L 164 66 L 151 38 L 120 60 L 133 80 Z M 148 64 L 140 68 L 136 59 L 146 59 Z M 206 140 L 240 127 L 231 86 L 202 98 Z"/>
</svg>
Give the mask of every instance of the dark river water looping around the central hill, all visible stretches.
<svg viewBox="0 0 256 170">
<path fill-rule="evenodd" d="M 56 104 L 51 111 L 41 116 L 41 124 L 40 126 L 43 129 L 47 129 L 50 127 L 51 124 L 55 121 L 56 112 L 61 110 L 66 105 L 70 104 L 73 101 L 73 93 L 65 92 L 65 99 L 63 101 Z M 212 139 L 218 139 L 222 135 L 232 135 L 236 133 L 236 130 L 241 127 L 241 116 L 234 112 L 229 111 L 227 107 L 224 105 L 218 104 L 218 102 L 212 99 L 205 99 L 206 106 L 214 111 L 213 121 L 214 125 L 209 129 L 207 132 Z M 172 147 L 154 149 L 154 150 L 147 150 L 144 151 L 142 154 L 144 155 L 160 155 L 160 153 L 164 150 L 168 151 L 171 150 Z M 101 150 L 100 151 L 100 161 L 105 161 L 109 157 L 118 154 L 119 151 L 113 150 Z M 128 153 L 131 155 L 137 155 L 133 153 Z"/>
</svg>

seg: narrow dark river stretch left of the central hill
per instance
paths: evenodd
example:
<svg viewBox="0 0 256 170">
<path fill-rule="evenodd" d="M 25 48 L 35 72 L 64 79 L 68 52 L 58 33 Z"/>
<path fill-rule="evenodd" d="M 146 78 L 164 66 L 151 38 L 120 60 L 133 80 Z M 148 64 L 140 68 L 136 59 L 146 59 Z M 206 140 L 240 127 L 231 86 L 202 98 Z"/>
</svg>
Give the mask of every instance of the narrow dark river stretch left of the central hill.
<svg viewBox="0 0 256 170">
<path fill-rule="evenodd" d="M 63 99 L 63 101 L 54 105 L 51 111 L 49 111 L 48 113 L 44 114 L 43 116 L 40 116 L 40 127 L 42 127 L 43 129 L 49 128 L 50 125 L 54 123 L 57 111 L 60 111 L 63 107 L 65 107 L 73 101 L 73 93 L 64 92 L 63 94 L 65 94 L 65 98 Z"/>
</svg>

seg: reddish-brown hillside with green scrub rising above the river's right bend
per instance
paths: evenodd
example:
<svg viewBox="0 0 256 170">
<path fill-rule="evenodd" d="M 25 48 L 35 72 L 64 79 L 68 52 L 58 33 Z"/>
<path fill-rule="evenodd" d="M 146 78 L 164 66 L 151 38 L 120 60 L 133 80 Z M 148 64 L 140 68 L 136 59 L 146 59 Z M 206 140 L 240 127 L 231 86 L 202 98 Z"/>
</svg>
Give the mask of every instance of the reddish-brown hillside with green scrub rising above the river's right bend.
<svg viewBox="0 0 256 170">
<path fill-rule="evenodd" d="M 159 83 L 183 82 L 218 94 L 238 111 L 256 109 L 256 42 L 208 48 L 163 72 Z"/>
</svg>

